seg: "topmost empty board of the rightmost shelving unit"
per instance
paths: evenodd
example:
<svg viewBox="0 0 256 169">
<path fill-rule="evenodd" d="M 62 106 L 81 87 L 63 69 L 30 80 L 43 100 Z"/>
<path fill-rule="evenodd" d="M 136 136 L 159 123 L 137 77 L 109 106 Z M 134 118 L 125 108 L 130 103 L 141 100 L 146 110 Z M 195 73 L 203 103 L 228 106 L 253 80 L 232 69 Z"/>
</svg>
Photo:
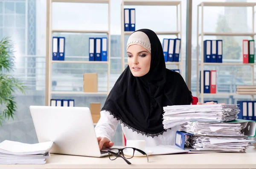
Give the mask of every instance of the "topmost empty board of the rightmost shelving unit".
<svg viewBox="0 0 256 169">
<path fill-rule="evenodd" d="M 230 7 L 252 7 L 256 3 L 236 3 L 236 2 L 202 2 L 198 6 L 230 6 Z"/>
</svg>

